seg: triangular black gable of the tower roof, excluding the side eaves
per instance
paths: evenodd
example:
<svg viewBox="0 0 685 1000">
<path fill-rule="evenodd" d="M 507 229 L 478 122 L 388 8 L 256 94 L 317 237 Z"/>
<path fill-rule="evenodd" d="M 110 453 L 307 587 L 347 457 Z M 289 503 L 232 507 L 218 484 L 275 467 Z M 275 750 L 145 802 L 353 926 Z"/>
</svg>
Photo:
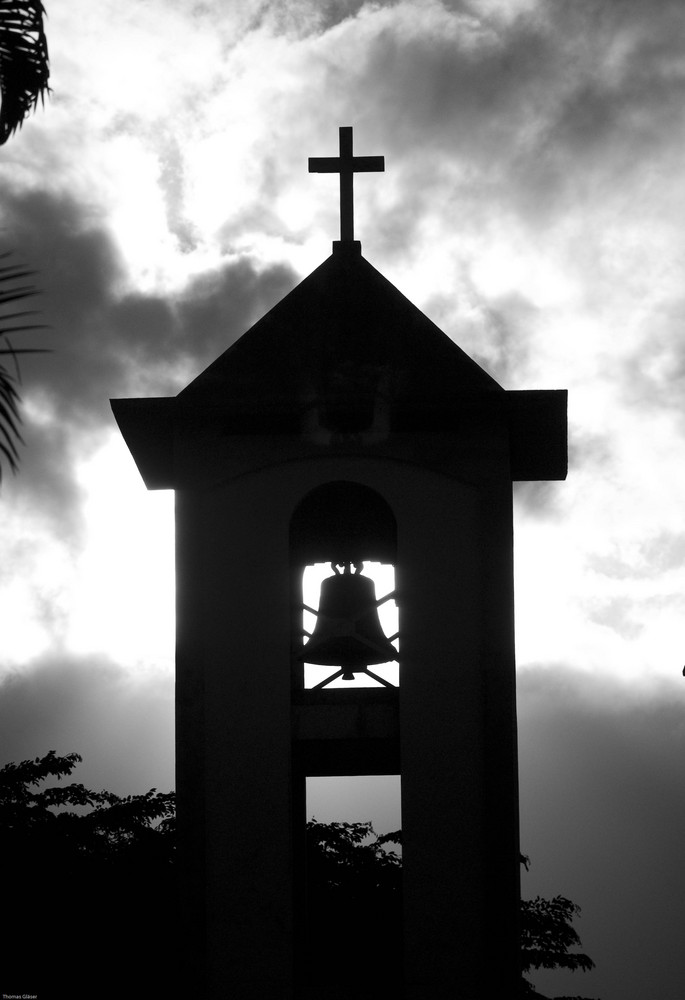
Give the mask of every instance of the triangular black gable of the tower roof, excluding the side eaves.
<svg viewBox="0 0 685 1000">
<path fill-rule="evenodd" d="M 392 382 L 393 409 L 453 408 L 497 382 L 361 256 L 334 253 L 191 382 L 179 402 L 281 419 L 331 379 Z M 355 381 L 356 379 L 356 381 Z"/>
</svg>

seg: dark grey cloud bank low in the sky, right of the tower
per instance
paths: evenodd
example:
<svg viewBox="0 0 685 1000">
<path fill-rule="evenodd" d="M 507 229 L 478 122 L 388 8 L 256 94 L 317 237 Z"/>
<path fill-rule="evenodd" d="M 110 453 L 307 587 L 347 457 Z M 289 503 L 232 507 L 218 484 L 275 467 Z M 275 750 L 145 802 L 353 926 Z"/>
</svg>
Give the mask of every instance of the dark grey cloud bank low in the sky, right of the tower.
<svg viewBox="0 0 685 1000">
<path fill-rule="evenodd" d="M 683 687 L 679 687 L 679 682 Z M 685 681 L 639 690 L 569 668 L 519 676 L 526 896 L 566 895 L 583 910 L 597 969 L 540 977 L 550 995 L 644 1000 L 685 987 Z"/>
</svg>

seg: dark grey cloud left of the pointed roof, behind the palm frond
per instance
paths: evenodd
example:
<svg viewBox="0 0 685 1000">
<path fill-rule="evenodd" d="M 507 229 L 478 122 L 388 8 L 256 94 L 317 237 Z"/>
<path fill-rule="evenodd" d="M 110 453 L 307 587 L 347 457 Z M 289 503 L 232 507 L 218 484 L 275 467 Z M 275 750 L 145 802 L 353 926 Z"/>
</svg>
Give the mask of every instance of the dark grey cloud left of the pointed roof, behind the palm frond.
<svg viewBox="0 0 685 1000">
<path fill-rule="evenodd" d="M 77 530 L 74 459 L 111 429 L 110 397 L 173 394 L 295 283 L 285 266 L 231 261 L 164 297 L 125 290 L 125 273 L 101 220 L 66 197 L 5 198 L 3 241 L 38 272 L 50 347 L 22 362 L 27 400 L 21 474 L 12 495 Z"/>
</svg>

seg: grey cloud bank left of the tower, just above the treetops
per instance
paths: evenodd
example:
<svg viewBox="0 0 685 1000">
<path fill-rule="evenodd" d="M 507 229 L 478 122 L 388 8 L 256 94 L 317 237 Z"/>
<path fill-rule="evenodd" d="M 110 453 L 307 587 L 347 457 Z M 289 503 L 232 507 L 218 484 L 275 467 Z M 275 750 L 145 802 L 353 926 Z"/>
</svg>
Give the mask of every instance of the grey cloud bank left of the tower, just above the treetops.
<svg viewBox="0 0 685 1000">
<path fill-rule="evenodd" d="M 71 780 L 129 794 L 174 786 L 173 678 L 51 654 L 0 681 L 0 766 L 76 751 Z"/>
</svg>

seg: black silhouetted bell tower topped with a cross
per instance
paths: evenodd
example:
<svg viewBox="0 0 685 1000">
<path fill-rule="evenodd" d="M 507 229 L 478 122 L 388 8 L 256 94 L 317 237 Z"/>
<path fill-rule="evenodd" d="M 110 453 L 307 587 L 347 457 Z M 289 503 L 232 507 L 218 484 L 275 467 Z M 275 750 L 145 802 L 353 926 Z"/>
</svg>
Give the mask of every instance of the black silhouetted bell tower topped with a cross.
<svg viewBox="0 0 685 1000">
<path fill-rule="evenodd" d="M 112 403 L 148 488 L 176 491 L 182 951 L 205 1000 L 517 989 L 512 482 L 565 478 L 566 393 L 503 389 L 365 260 L 352 178 L 382 168 L 341 129 L 310 161 L 340 173 L 331 256 L 178 396 Z M 312 960 L 303 840 L 306 778 L 360 774 L 401 775 L 403 829 L 401 959 L 361 978 L 364 914 Z"/>
</svg>

